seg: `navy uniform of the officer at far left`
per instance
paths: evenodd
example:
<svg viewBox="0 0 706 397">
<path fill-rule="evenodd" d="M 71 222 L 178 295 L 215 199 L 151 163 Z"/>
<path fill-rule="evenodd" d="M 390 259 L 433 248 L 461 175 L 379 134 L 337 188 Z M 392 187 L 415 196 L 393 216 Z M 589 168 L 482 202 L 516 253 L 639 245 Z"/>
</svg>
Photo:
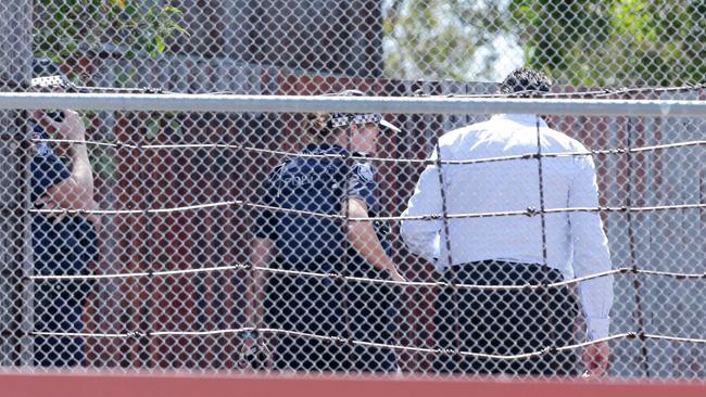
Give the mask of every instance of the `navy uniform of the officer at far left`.
<svg viewBox="0 0 706 397">
<path fill-rule="evenodd" d="M 34 137 L 47 132 L 34 124 Z M 36 143 L 30 164 L 31 202 L 71 177 L 71 171 L 47 143 Z M 54 219 L 36 214 L 31 222 L 35 274 L 83 274 L 98 255 L 98 235 L 83 216 Z M 81 332 L 83 306 L 89 284 L 85 281 L 38 281 L 35 285 L 35 330 Z M 42 367 L 84 362 L 83 338 L 35 337 L 35 363 Z"/>
</svg>

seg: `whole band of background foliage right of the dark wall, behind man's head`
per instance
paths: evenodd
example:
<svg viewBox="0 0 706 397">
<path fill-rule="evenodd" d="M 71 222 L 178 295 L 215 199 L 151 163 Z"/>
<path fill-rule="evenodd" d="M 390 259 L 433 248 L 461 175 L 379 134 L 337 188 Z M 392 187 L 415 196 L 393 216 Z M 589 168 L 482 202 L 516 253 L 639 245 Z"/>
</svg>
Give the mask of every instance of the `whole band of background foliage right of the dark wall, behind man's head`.
<svg viewBox="0 0 706 397">
<path fill-rule="evenodd" d="M 706 80 L 704 0 L 386 0 L 383 5 L 390 77 L 488 78 L 503 51 L 493 40 L 503 37 L 521 47 L 517 65 L 544 69 L 562 84 Z"/>
</svg>

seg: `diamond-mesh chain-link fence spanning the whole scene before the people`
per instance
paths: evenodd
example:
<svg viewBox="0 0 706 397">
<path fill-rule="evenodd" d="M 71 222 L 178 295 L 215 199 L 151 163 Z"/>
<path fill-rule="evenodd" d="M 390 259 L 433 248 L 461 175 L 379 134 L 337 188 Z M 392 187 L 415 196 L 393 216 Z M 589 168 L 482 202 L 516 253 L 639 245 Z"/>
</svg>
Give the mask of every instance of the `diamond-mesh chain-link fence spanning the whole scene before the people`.
<svg viewBox="0 0 706 397">
<path fill-rule="evenodd" d="M 0 11 L 4 91 L 27 90 L 31 59 L 42 57 L 66 76 L 63 90 L 165 98 L 497 95 L 497 81 L 522 65 L 552 76 L 556 95 L 705 95 L 697 1 L 13 0 Z M 550 114 L 550 127 L 585 146 L 558 155 L 538 146 L 544 127 L 532 116 L 530 151 L 441 150 L 434 159 L 439 137 L 492 115 L 427 113 L 382 115 L 400 131 L 380 126 L 361 150 L 349 124 L 340 141 L 312 136 L 305 113 L 3 112 L 0 362 L 578 375 L 596 335 L 587 335 L 587 298 L 572 280 L 589 276 L 614 279 L 609 333 L 598 335 L 610 346 L 608 374 L 706 377 L 703 117 Z M 552 183 L 589 157 L 598 202 L 572 218 Z M 451 264 L 465 245 L 504 241 L 497 228 L 529 228 L 510 246 L 532 247 L 532 260 L 478 257 L 496 259 L 482 265 L 495 276 L 468 282 L 413 254 L 401 225 L 425 169 L 507 178 L 505 164 L 526 167 L 527 178 L 513 178 L 532 188 L 454 207 L 479 196 L 454 185 L 440 190 L 443 210 L 406 220 L 441 222 L 446 258 L 434 259 Z M 374 219 L 349 221 L 361 202 Z M 606 269 L 577 274 L 581 264 L 556 260 L 552 230 L 568 219 L 601 219 Z M 375 238 L 351 238 L 361 226 Z M 362 258 L 378 248 L 404 282 Z M 549 267 L 528 281 L 503 268 L 507 259 Z M 560 326 L 522 326 L 539 312 Z M 472 326 L 488 319 L 499 319 L 490 331 Z"/>
</svg>

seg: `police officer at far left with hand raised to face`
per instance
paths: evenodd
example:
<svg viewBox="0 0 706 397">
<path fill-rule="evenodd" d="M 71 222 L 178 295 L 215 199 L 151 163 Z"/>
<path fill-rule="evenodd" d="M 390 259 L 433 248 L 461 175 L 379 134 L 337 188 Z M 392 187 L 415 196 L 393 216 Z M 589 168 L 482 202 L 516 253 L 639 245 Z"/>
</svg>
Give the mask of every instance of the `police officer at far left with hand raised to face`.
<svg viewBox="0 0 706 397">
<path fill-rule="evenodd" d="M 35 60 L 34 86 L 61 89 L 65 76 L 48 60 Z M 50 81 L 47 84 L 47 81 Z M 34 112 L 31 137 L 79 140 L 86 128 L 78 114 Z M 71 158 L 68 169 L 47 142 L 36 142 L 30 161 L 30 200 L 36 208 L 94 209 L 93 175 L 86 144 L 71 143 L 63 150 Z M 83 274 L 98 256 L 98 218 L 93 215 L 35 214 L 31 246 L 36 274 Z M 88 293 L 84 281 L 39 281 L 35 285 L 35 330 L 42 332 L 83 331 L 83 306 Z M 84 364 L 84 341 L 79 337 L 35 337 L 35 364 L 71 367 Z"/>
</svg>

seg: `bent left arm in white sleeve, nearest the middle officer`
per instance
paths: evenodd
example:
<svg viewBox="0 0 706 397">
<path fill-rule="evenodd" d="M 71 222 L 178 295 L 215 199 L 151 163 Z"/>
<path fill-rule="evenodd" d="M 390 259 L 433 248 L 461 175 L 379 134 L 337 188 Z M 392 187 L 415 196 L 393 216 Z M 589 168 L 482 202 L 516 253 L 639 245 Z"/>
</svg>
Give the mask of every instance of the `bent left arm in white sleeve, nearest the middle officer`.
<svg viewBox="0 0 706 397">
<path fill-rule="evenodd" d="M 434 158 L 436 154 L 430 157 L 432 161 Z M 429 165 L 419 176 L 414 195 L 409 198 L 407 209 L 402 213 L 402 216 L 441 215 L 442 213 L 439 169 L 436 165 Z M 400 234 L 409 251 L 432 262 L 443 260 L 443 258 L 439 258 L 439 242 L 442 231 L 443 220 L 439 218 L 403 220 L 400 223 Z"/>
</svg>

